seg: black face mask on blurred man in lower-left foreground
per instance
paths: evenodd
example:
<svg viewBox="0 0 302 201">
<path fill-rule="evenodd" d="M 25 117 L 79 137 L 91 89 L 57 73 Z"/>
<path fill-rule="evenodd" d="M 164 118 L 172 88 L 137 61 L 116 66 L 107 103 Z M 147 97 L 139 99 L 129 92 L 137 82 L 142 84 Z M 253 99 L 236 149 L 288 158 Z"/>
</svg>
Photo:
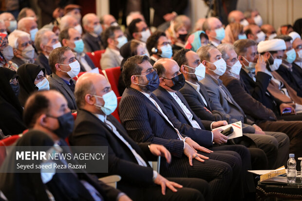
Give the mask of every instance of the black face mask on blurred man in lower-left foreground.
<svg viewBox="0 0 302 201">
<path fill-rule="evenodd" d="M 59 122 L 59 128 L 54 130 L 54 133 L 56 133 L 59 138 L 65 139 L 72 133 L 75 126 L 75 120 L 74 116 L 70 112 L 59 117 L 49 117 L 56 118 Z"/>
</svg>

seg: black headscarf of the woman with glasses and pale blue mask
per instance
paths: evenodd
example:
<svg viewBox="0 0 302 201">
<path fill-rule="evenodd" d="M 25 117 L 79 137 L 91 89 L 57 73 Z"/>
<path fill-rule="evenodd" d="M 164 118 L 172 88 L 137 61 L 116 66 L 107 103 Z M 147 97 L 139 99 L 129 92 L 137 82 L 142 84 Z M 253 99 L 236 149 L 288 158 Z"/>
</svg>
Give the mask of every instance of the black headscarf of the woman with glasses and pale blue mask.
<svg viewBox="0 0 302 201">
<path fill-rule="evenodd" d="M 18 68 L 17 74 L 19 75 L 18 81 L 20 85 L 19 101 L 21 106 L 25 105 L 28 96 L 32 92 L 38 91 L 38 88 L 36 87 L 34 82 L 40 71 L 43 71 L 43 73 L 45 74 L 44 68 L 31 63 L 22 64 Z"/>
</svg>

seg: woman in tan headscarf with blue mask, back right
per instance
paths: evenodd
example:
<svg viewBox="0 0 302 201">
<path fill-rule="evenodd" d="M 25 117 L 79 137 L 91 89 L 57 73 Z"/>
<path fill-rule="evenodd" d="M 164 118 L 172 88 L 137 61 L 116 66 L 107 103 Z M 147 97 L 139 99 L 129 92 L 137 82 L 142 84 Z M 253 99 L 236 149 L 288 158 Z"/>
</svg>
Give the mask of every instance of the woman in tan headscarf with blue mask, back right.
<svg viewBox="0 0 302 201">
<path fill-rule="evenodd" d="M 222 39 L 222 43 L 233 44 L 236 40 L 246 39 L 246 35 L 243 32 L 243 25 L 234 22 L 229 23 L 225 30 L 226 36 Z"/>
</svg>

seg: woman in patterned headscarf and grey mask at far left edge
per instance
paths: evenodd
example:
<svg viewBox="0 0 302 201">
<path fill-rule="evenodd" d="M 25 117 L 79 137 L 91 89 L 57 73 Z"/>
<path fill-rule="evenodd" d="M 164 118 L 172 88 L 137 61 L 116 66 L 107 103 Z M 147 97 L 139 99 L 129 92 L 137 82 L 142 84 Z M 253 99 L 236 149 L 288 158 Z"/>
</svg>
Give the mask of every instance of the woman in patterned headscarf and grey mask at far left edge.
<svg viewBox="0 0 302 201">
<path fill-rule="evenodd" d="M 0 67 L 17 71 L 18 65 L 11 61 L 14 57 L 13 48 L 8 45 L 7 34 L 0 33 Z"/>
</svg>

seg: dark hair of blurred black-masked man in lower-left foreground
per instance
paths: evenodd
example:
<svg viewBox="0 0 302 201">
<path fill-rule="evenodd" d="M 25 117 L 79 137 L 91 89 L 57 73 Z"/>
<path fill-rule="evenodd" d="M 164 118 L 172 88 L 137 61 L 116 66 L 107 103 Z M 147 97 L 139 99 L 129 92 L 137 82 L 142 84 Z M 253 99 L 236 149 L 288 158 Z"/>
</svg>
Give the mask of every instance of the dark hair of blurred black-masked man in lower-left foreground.
<svg viewBox="0 0 302 201">
<path fill-rule="evenodd" d="M 34 92 L 25 103 L 23 120 L 27 128 L 33 128 L 38 116 L 49 111 L 49 100 L 44 93 L 45 91 Z"/>
</svg>

